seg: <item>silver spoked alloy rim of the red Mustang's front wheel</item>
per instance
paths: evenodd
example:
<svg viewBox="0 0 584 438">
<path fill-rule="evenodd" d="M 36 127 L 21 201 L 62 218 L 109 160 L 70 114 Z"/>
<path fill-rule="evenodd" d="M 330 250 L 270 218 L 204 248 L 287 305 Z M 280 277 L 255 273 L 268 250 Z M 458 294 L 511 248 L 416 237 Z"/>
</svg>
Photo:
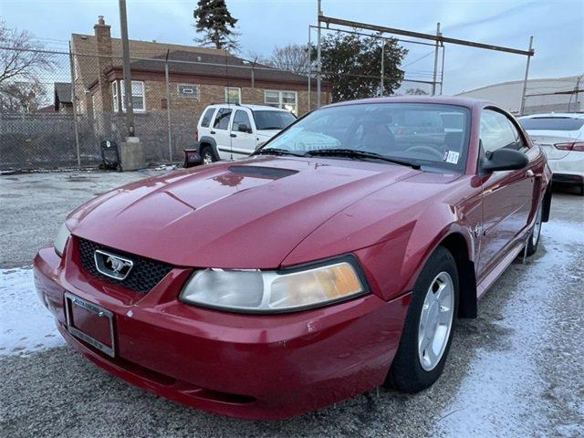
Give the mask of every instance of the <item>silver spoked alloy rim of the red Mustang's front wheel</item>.
<svg viewBox="0 0 584 438">
<path fill-rule="evenodd" d="M 418 357 L 423 370 L 433 370 L 442 360 L 453 320 L 454 283 L 443 271 L 434 277 L 423 301 L 418 327 Z"/>
</svg>

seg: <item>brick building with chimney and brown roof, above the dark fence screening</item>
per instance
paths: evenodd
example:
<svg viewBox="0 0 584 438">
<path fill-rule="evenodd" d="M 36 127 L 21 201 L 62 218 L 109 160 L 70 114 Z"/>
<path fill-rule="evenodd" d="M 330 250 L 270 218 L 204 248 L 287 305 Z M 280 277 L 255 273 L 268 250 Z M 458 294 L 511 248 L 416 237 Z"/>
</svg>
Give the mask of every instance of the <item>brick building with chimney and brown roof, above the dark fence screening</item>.
<svg viewBox="0 0 584 438">
<path fill-rule="evenodd" d="M 93 36 L 73 34 L 71 38 L 78 112 L 123 111 L 121 41 L 111 37 L 110 25 L 102 16 L 94 31 Z M 132 103 L 137 113 L 167 110 L 167 66 L 172 111 L 189 111 L 197 118 L 208 104 L 226 99 L 287 108 L 297 115 L 308 111 L 308 78 L 254 64 L 224 50 L 130 40 L 130 57 Z M 328 96 L 325 90 L 323 102 L 328 102 Z M 315 92 L 312 99 L 316 101 Z"/>
</svg>

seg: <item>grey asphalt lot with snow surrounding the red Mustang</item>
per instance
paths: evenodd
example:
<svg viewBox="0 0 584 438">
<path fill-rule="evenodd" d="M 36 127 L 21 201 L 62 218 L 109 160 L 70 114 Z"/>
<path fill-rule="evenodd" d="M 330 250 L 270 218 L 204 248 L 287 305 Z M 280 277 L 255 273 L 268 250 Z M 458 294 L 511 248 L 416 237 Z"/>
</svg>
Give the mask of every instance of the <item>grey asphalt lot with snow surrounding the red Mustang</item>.
<svg viewBox="0 0 584 438">
<path fill-rule="evenodd" d="M 478 318 L 458 322 L 442 378 L 416 395 L 381 389 L 287 421 L 246 422 L 110 377 L 52 327 L 41 333 L 50 341 L 31 342 L 36 249 L 79 203 L 156 173 L 0 177 L 2 436 L 584 436 L 584 197 L 567 191 L 554 193 L 537 254 L 507 269 Z M 22 318 L 5 317 L 15 306 Z"/>
</svg>

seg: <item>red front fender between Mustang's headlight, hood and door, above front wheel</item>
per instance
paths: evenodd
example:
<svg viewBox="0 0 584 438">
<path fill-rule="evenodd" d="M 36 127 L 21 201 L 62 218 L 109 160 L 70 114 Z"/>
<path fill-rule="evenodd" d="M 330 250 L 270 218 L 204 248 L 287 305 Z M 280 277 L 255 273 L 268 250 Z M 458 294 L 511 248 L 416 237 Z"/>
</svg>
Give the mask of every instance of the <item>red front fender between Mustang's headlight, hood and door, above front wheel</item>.
<svg viewBox="0 0 584 438">
<path fill-rule="evenodd" d="M 373 293 L 386 300 L 399 297 L 412 290 L 428 257 L 450 235 L 462 236 L 470 264 L 474 262 L 478 243 L 473 230 L 483 220 L 481 193 L 473 178 L 447 180 L 421 173 L 335 214 L 300 242 L 282 266 L 353 253 Z"/>
</svg>

